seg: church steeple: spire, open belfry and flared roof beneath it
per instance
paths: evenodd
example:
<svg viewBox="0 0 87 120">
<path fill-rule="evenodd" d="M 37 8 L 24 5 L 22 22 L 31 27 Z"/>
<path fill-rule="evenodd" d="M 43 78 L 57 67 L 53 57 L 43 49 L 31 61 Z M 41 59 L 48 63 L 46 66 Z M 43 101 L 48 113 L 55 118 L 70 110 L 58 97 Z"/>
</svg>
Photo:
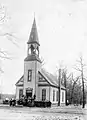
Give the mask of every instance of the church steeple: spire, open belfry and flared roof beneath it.
<svg viewBox="0 0 87 120">
<path fill-rule="evenodd" d="M 37 33 L 37 27 L 36 27 L 36 21 L 34 18 L 29 40 L 27 42 L 28 44 L 28 50 L 27 50 L 27 58 L 25 58 L 25 61 L 33 61 L 37 60 L 41 62 L 39 58 L 39 40 L 38 40 L 38 33 Z"/>
</svg>

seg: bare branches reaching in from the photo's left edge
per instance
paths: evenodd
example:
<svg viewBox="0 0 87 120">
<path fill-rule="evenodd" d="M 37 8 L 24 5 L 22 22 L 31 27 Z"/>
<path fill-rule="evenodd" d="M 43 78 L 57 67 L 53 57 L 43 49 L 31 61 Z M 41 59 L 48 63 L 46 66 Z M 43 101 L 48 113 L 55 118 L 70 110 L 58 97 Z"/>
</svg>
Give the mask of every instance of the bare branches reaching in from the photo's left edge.
<svg viewBox="0 0 87 120">
<path fill-rule="evenodd" d="M 6 37 L 7 40 L 11 41 L 12 44 L 15 44 L 17 47 L 18 46 L 18 42 L 17 42 L 17 37 L 16 35 L 12 32 L 6 29 L 6 24 L 9 22 L 9 16 L 7 13 L 7 9 L 4 5 L 0 4 L 0 37 Z M 9 27 L 8 27 L 9 28 Z M 3 50 L 3 47 L 0 48 L 0 60 L 2 59 L 9 59 L 11 60 L 11 56 L 9 56 L 8 52 Z M 3 73 L 3 70 L 0 67 L 0 72 Z"/>
</svg>

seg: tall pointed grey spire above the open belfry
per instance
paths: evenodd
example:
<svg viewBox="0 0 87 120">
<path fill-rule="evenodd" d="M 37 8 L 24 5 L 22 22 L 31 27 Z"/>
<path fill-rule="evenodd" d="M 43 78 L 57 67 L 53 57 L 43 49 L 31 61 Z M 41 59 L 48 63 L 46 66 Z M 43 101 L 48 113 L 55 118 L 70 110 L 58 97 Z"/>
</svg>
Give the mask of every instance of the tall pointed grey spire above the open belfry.
<svg viewBox="0 0 87 120">
<path fill-rule="evenodd" d="M 30 37 L 29 37 L 29 40 L 28 40 L 27 43 L 28 44 L 37 43 L 38 45 L 40 45 L 39 40 L 38 40 L 38 33 L 37 33 L 35 17 L 34 17 L 32 29 L 31 29 L 31 32 L 30 32 Z"/>
</svg>

